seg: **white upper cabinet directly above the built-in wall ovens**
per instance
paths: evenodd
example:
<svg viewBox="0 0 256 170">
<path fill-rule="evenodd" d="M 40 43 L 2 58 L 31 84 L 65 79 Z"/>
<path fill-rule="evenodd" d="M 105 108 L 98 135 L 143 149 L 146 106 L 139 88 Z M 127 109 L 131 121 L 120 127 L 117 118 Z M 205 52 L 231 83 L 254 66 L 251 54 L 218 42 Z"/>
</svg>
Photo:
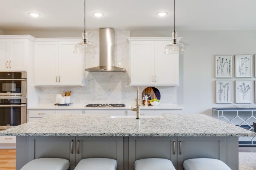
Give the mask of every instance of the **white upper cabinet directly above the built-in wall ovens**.
<svg viewBox="0 0 256 170">
<path fill-rule="evenodd" d="M 30 36 L 0 36 L 0 70 L 23 71 L 26 70 L 26 61 L 29 50 Z M 31 43 L 30 43 L 31 44 Z"/>
</svg>

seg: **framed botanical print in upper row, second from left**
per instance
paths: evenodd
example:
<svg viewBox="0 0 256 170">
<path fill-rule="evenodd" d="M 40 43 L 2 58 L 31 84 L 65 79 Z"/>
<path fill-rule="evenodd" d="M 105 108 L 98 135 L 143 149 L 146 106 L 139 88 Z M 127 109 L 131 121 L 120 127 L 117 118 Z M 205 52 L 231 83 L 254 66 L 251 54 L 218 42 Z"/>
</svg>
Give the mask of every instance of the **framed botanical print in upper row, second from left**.
<svg viewBox="0 0 256 170">
<path fill-rule="evenodd" d="M 252 77 L 252 55 L 235 55 L 235 77 Z"/>
</svg>

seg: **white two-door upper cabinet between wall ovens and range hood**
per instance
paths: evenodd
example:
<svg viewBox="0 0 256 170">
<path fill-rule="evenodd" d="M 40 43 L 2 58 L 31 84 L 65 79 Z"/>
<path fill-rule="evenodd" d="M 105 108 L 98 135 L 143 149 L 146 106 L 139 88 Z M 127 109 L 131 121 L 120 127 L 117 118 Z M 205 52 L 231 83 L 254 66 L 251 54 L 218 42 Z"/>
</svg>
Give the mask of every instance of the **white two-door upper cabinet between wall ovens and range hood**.
<svg viewBox="0 0 256 170">
<path fill-rule="evenodd" d="M 74 54 L 78 41 L 35 42 L 36 86 L 83 85 L 82 54 Z"/>
</svg>

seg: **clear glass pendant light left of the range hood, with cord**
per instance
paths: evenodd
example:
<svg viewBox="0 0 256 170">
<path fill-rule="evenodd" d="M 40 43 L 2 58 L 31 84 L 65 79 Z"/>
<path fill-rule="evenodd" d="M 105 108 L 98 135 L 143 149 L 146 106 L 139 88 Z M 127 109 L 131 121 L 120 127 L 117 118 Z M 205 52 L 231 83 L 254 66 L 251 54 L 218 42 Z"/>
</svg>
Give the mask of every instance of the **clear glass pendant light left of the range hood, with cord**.
<svg viewBox="0 0 256 170">
<path fill-rule="evenodd" d="M 85 32 L 85 0 L 84 0 L 84 32 L 82 34 L 83 42 L 75 45 L 74 53 L 76 54 L 95 54 L 95 47 L 92 43 L 88 42 L 88 34 Z"/>
</svg>

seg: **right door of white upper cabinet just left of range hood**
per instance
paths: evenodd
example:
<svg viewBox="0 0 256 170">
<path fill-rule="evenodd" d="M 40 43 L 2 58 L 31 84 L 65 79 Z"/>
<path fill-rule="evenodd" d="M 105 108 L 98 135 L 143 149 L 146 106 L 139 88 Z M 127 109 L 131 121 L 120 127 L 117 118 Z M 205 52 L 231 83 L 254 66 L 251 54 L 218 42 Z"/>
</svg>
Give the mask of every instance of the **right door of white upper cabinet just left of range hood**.
<svg viewBox="0 0 256 170">
<path fill-rule="evenodd" d="M 82 54 L 74 54 L 78 42 L 59 42 L 59 84 L 82 85 Z"/>
</svg>

